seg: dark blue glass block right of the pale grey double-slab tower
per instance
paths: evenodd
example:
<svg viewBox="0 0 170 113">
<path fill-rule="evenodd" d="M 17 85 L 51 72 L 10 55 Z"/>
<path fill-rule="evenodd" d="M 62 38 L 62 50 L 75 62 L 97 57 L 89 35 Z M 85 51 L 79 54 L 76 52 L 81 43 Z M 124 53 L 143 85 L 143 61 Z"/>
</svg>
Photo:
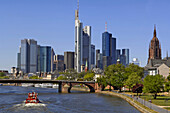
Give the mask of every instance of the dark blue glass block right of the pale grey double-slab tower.
<svg viewBox="0 0 170 113">
<path fill-rule="evenodd" d="M 50 46 L 40 46 L 40 72 L 51 72 Z"/>
</svg>

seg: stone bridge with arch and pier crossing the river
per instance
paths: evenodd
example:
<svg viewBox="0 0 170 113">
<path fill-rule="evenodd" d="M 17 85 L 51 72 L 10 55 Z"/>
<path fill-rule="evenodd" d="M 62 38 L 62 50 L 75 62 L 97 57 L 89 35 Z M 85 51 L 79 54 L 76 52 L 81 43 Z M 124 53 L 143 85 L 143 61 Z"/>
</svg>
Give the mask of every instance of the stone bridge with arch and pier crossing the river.
<svg viewBox="0 0 170 113">
<path fill-rule="evenodd" d="M 54 83 L 59 84 L 59 93 L 70 93 L 71 88 L 75 85 L 84 84 L 90 89 L 90 92 L 95 92 L 99 89 L 98 84 L 94 81 L 68 81 L 68 80 L 18 80 L 18 79 L 0 79 L 0 83 Z"/>
</svg>

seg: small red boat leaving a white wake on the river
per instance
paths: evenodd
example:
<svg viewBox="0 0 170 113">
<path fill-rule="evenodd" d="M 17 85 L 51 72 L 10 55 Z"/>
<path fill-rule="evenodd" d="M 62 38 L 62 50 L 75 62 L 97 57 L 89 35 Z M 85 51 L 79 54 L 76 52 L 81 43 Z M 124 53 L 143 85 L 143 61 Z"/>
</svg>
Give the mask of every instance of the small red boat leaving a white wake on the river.
<svg viewBox="0 0 170 113">
<path fill-rule="evenodd" d="M 28 98 L 25 101 L 25 104 L 37 104 L 40 103 L 39 99 L 37 98 L 38 93 L 32 92 L 32 93 L 28 93 Z"/>
</svg>

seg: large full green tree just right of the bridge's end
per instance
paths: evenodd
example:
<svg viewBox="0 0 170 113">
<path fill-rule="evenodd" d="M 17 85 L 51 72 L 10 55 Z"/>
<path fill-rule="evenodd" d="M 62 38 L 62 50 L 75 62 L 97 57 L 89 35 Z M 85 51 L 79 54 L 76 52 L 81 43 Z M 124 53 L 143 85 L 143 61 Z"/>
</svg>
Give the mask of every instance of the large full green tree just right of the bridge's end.
<svg viewBox="0 0 170 113">
<path fill-rule="evenodd" d="M 125 66 L 122 64 L 113 64 L 105 69 L 106 82 L 110 86 L 116 86 L 121 91 L 127 76 L 125 75 Z"/>
</svg>

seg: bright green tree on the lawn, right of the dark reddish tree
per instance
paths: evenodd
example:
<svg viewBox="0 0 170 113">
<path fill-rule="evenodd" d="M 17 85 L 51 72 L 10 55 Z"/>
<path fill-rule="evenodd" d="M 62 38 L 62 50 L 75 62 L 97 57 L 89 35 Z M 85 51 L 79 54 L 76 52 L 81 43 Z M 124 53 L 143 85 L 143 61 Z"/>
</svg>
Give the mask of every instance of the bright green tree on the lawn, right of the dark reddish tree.
<svg viewBox="0 0 170 113">
<path fill-rule="evenodd" d="M 162 75 L 147 75 L 144 78 L 144 93 L 153 93 L 154 99 L 157 97 L 157 93 L 163 89 L 164 78 Z"/>
</svg>

